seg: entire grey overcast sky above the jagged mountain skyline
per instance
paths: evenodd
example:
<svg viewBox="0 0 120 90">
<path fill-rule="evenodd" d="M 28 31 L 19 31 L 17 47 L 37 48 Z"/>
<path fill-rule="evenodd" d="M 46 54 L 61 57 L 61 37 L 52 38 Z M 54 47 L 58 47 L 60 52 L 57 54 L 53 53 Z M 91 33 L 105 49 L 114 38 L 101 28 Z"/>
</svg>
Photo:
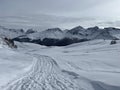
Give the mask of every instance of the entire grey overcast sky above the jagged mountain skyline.
<svg viewBox="0 0 120 90">
<path fill-rule="evenodd" d="M 120 0 L 0 0 L 0 25 L 10 28 L 120 27 Z"/>
</svg>

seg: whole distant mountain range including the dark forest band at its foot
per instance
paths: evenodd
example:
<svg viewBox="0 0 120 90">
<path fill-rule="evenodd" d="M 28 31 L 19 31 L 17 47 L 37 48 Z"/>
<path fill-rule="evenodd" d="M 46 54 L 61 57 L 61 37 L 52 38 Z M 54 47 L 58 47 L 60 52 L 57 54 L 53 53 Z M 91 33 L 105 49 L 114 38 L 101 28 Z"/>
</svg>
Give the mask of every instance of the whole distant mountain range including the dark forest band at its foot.
<svg viewBox="0 0 120 90">
<path fill-rule="evenodd" d="M 3 33 L 4 30 L 7 33 Z M 12 33 L 10 37 L 9 33 Z M 94 39 L 104 40 L 118 40 L 120 39 L 120 29 L 114 27 L 99 28 L 97 26 L 90 28 L 83 28 L 77 26 L 70 30 L 61 30 L 60 28 L 50 28 L 45 31 L 36 32 L 32 29 L 26 32 L 22 29 L 1 29 L 0 34 L 9 36 L 15 41 L 31 42 L 46 46 L 65 46 L 72 43 L 78 43 Z"/>
</svg>

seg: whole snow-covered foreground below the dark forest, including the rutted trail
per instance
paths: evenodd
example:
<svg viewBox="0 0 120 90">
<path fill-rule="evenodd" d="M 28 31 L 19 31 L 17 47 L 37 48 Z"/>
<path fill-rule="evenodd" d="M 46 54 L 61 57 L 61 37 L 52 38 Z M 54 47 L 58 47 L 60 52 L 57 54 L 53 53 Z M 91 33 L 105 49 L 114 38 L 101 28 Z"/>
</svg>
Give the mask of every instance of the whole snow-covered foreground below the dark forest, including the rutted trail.
<svg viewBox="0 0 120 90">
<path fill-rule="evenodd" d="M 17 50 L 1 47 L 0 63 L 6 66 L 0 69 L 0 90 L 120 90 L 120 42 L 109 42 L 65 47 L 16 42 Z"/>
</svg>

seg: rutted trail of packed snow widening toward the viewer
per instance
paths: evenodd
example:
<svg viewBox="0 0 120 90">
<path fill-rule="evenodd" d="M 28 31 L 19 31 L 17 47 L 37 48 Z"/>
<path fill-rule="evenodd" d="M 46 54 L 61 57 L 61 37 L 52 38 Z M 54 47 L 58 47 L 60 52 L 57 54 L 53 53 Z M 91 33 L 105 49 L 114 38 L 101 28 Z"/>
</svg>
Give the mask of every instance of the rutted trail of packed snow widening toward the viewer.
<svg viewBox="0 0 120 90">
<path fill-rule="evenodd" d="M 29 72 L 8 84 L 5 90 L 83 90 L 77 82 L 63 74 L 48 56 L 38 56 Z"/>
</svg>

